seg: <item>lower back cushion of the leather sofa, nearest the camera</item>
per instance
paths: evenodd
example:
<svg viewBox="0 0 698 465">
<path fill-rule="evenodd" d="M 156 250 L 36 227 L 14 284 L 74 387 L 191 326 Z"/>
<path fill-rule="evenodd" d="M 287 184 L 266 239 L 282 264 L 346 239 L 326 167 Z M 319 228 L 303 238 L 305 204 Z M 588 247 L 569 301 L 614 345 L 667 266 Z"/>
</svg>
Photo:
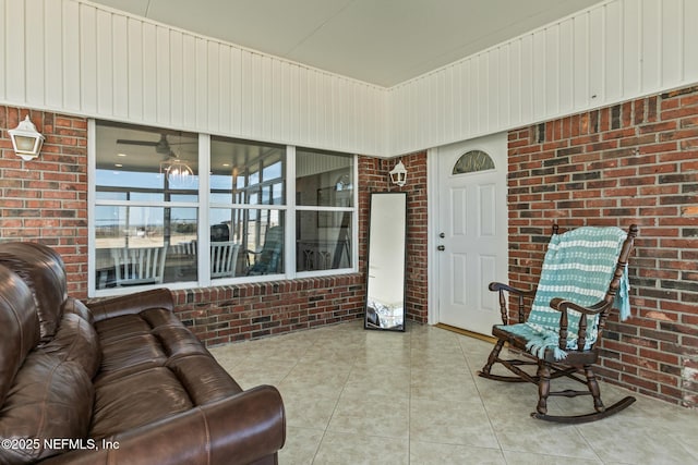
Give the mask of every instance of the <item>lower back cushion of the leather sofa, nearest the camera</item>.
<svg viewBox="0 0 698 465">
<path fill-rule="evenodd" d="M 45 449 L 45 439 L 86 438 L 93 400 L 92 381 L 81 366 L 32 352 L 0 411 L 0 438 L 39 441 L 24 450 L 0 448 L 0 463 L 33 463 L 62 452 Z"/>
</svg>

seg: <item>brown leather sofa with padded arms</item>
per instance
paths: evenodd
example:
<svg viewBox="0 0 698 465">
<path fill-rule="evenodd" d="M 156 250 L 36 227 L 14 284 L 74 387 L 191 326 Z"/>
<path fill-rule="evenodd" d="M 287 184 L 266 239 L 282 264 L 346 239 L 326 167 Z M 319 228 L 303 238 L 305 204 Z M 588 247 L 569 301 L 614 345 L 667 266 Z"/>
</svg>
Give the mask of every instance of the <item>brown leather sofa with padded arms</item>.
<svg viewBox="0 0 698 465">
<path fill-rule="evenodd" d="M 61 257 L 0 244 L 0 464 L 276 464 L 284 404 L 243 391 L 167 290 L 85 306 Z"/>
</svg>

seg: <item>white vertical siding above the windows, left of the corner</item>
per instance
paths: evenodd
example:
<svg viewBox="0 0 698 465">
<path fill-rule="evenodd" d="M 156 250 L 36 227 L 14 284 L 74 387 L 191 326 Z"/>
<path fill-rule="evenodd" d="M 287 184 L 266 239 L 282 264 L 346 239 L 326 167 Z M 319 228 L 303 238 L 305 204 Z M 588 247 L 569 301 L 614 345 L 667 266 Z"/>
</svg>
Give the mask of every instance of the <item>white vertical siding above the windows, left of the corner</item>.
<svg viewBox="0 0 698 465">
<path fill-rule="evenodd" d="M 0 0 L 0 102 L 384 155 L 387 89 L 80 0 Z"/>
</svg>

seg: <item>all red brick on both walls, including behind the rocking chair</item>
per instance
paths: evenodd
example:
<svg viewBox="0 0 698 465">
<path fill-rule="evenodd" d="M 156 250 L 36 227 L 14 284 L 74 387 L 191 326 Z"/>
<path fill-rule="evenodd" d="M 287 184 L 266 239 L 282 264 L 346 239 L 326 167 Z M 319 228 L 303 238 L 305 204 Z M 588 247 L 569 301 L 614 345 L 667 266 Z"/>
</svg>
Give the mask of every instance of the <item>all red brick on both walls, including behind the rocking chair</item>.
<svg viewBox="0 0 698 465">
<path fill-rule="evenodd" d="M 28 110 L 0 106 L 0 241 L 37 241 L 63 256 L 70 293 L 87 294 L 86 120 L 29 111 L 47 137 L 22 161 L 7 129 Z M 20 114 L 21 113 L 21 114 Z M 425 322 L 426 156 L 402 158 L 408 192 L 408 317 Z M 181 318 L 207 343 L 312 328 L 363 311 L 369 193 L 387 191 L 396 160 L 360 157 L 359 273 L 176 292 Z M 534 282 L 553 221 L 640 225 L 631 257 L 635 317 L 609 321 L 604 378 L 698 404 L 698 88 L 509 133 L 509 278 Z M 533 277 L 533 278 L 532 278 Z"/>
</svg>

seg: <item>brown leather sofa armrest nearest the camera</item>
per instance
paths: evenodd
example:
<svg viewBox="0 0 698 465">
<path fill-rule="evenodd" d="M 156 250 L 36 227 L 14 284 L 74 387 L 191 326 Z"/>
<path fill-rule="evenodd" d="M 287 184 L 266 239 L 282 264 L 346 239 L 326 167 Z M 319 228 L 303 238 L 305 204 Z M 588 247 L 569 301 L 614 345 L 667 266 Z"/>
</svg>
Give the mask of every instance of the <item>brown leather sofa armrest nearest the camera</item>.
<svg viewBox="0 0 698 465">
<path fill-rule="evenodd" d="M 109 441 L 115 446 L 109 448 Z M 260 386 L 125 431 L 105 442 L 96 441 L 98 451 L 76 450 L 44 463 L 250 464 L 274 456 L 285 441 L 281 396 L 276 388 Z"/>
</svg>

